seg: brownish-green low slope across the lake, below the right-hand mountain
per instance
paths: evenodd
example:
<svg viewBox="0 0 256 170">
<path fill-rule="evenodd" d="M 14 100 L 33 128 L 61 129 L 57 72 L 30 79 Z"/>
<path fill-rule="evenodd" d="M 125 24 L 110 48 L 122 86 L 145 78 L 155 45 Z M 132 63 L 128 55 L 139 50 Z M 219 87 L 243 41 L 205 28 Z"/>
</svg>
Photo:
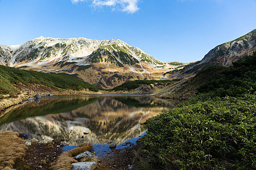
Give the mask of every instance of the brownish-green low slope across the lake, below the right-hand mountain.
<svg viewBox="0 0 256 170">
<path fill-rule="evenodd" d="M 150 94 L 162 98 L 187 99 L 196 96 L 197 88 L 209 80 L 213 74 L 223 71 L 226 67 L 211 66 L 202 69 L 196 76 L 173 80 L 138 80 L 128 81 L 113 88 L 113 91 L 130 94 Z"/>
</svg>

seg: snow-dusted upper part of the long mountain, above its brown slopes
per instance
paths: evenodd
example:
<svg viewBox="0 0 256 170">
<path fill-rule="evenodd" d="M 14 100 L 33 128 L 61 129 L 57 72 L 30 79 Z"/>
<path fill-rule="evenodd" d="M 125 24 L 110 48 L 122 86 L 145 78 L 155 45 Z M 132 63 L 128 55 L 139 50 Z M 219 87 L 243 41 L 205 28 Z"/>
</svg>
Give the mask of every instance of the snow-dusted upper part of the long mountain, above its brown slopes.
<svg viewBox="0 0 256 170">
<path fill-rule="evenodd" d="M 163 64 L 144 51 L 131 47 L 119 39 L 99 41 L 82 37 L 60 39 L 40 36 L 20 45 L 0 45 L 0 55 L 1 62 L 11 67 L 41 66 L 56 61 L 75 61 L 78 64 L 84 64 L 109 60 L 112 63 L 118 63 L 119 67 L 122 67 L 119 63 L 133 65 L 139 61 L 146 61 L 152 66 Z M 111 57 L 105 57 L 103 60 L 101 55 Z"/>
</svg>

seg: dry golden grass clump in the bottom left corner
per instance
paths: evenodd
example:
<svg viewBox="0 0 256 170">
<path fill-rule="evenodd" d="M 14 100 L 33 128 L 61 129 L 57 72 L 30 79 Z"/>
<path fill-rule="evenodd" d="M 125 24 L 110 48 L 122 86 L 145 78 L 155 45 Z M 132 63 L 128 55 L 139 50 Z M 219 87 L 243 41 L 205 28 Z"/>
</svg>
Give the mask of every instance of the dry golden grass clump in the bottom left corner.
<svg viewBox="0 0 256 170">
<path fill-rule="evenodd" d="M 18 132 L 0 133 L 0 170 L 14 170 L 15 161 L 25 156 L 24 142 Z"/>
</svg>

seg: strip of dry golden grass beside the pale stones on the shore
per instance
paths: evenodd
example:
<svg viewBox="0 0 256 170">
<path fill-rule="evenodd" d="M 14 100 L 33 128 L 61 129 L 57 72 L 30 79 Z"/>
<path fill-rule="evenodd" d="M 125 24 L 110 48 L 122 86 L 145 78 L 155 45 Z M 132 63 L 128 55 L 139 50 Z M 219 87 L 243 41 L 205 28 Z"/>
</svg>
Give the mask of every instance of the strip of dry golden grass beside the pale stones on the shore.
<svg viewBox="0 0 256 170">
<path fill-rule="evenodd" d="M 78 161 L 73 158 L 73 156 L 83 153 L 84 151 L 91 151 L 92 145 L 82 144 L 78 148 L 74 148 L 68 152 L 61 153 L 57 160 L 51 163 L 50 170 L 71 170 L 72 163 L 77 163 Z"/>
</svg>

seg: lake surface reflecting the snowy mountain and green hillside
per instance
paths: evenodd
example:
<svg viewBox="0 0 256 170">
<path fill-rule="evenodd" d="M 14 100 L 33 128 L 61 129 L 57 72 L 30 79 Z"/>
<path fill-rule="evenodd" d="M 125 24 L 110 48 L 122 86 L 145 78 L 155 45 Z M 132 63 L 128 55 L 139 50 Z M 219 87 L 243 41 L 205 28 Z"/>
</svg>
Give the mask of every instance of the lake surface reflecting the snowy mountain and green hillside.
<svg viewBox="0 0 256 170">
<path fill-rule="evenodd" d="M 177 103 L 149 96 L 85 95 L 45 97 L 25 102 L 0 117 L 0 132 L 16 131 L 39 139 L 55 138 L 70 145 L 83 142 L 117 144 L 145 132 L 146 119 Z M 83 132 L 89 133 L 83 135 Z M 84 136 L 84 138 L 81 138 Z"/>
</svg>

